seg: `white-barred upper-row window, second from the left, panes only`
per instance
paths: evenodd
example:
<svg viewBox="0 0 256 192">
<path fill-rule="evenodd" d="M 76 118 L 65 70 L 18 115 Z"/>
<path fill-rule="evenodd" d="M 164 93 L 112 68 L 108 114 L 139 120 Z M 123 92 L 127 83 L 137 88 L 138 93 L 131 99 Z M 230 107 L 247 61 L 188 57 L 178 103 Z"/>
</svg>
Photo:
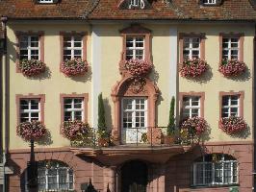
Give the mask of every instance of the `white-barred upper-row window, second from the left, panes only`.
<svg viewBox="0 0 256 192">
<path fill-rule="evenodd" d="M 83 60 L 83 36 L 64 36 L 64 60 Z"/>
</svg>

